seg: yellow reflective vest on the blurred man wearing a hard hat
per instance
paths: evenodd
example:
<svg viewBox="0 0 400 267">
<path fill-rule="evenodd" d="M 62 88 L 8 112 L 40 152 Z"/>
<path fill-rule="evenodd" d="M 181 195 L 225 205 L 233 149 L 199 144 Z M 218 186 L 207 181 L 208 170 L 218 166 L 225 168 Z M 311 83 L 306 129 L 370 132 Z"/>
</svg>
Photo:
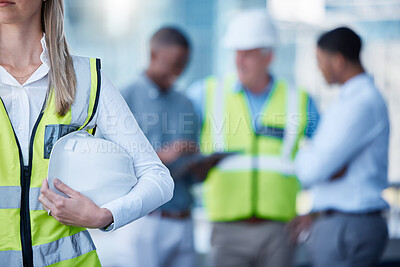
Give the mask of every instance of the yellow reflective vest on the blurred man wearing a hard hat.
<svg viewBox="0 0 400 267">
<path fill-rule="evenodd" d="M 211 221 L 251 217 L 286 222 L 296 216 L 300 184 L 294 157 L 307 127 L 308 95 L 275 81 L 262 112 L 252 118 L 234 77 L 205 81 L 203 153 L 234 152 L 211 169 L 203 186 Z"/>
</svg>

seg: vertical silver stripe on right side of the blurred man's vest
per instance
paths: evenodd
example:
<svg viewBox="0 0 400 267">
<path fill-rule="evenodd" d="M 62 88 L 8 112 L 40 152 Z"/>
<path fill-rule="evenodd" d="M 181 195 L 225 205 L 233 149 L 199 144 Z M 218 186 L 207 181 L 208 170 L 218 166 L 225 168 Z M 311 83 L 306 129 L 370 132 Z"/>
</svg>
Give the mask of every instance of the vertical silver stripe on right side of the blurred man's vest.
<svg viewBox="0 0 400 267">
<path fill-rule="evenodd" d="M 292 151 L 296 144 L 299 127 L 299 97 L 298 91 L 288 87 L 287 88 L 287 117 L 285 125 L 285 135 L 283 137 L 282 157 L 285 160 L 291 160 Z"/>
</svg>

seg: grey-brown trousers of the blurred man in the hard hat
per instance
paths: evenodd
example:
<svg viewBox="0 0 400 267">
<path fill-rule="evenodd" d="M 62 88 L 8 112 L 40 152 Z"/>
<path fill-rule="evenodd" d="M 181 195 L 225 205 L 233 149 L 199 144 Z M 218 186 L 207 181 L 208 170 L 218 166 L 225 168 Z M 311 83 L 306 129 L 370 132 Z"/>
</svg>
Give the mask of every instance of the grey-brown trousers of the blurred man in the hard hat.
<svg viewBox="0 0 400 267">
<path fill-rule="evenodd" d="M 285 224 L 273 221 L 214 223 L 212 267 L 290 267 L 294 246 Z"/>
</svg>

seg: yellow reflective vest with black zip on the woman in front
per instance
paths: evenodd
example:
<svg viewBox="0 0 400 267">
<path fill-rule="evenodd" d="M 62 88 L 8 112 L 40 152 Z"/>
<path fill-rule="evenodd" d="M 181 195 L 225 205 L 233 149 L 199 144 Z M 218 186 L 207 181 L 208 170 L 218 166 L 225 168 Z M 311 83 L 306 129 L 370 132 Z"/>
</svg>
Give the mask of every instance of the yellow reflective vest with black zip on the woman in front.
<svg viewBox="0 0 400 267">
<path fill-rule="evenodd" d="M 87 128 L 100 95 L 100 60 L 73 57 L 76 97 L 70 111 L 58 116 L 54 93 L 32 130 L 29 164 L 3 101 L 0 102 L 0 265 L 101 266 L 93 241 L 84 228 L 62 225 L 48 216 L 38 200 L 47 177 L 49 153 L 63 135 Z"/>
</svg>

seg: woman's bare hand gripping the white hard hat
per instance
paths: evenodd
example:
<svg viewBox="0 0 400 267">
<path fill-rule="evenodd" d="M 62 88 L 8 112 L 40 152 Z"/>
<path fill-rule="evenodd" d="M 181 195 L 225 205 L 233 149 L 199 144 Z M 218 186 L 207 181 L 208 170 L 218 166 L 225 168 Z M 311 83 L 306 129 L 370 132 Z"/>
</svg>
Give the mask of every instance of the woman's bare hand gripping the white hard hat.
<svg viewBox="0 0 400 267">
<path fill-rule="evenodd" d="M 69 198 L 53 192 L 46 178 L 42 182 L 39 201 L 45 210 L 50 210 L 49 215 L 57 221 L 65 225 L 85 228 L 103 228 L 113 222 L 112 214 L 108 209 L 100 208 L 89 198 L 58 179 L 54 180 L 54 186 Z"/>
</svg>

